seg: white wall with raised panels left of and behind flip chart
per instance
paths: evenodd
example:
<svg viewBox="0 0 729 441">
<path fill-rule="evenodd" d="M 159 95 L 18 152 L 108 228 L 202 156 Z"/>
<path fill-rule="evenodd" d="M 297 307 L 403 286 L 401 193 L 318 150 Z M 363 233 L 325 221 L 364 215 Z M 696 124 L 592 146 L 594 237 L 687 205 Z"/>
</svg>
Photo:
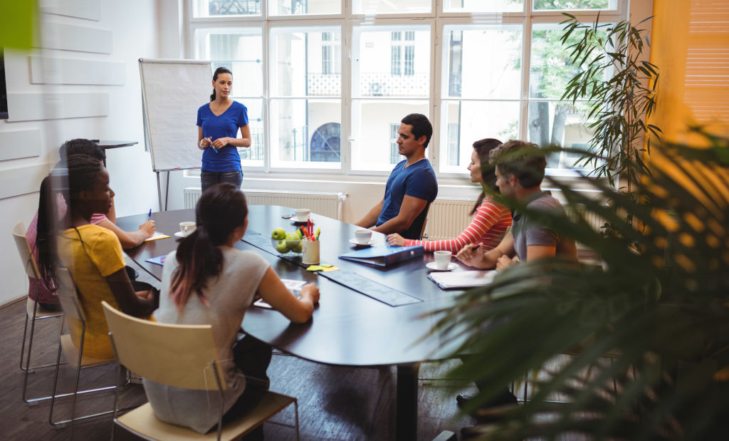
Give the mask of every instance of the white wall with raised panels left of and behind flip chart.
<svg viewBox="0 0 729 441">
<path fill-rule="evenodd" d="M 71 2 L 72 3 L 72 2 Z M 58 2 L 71 4 L 69 2 Z M 5 69 L 8 93 L 29 93 L 29 96 L 20 96 L 23 100 L 31 100 L 38 94 L 43 93 L 79 93 L 83 98 L 90 93 L 101 93 L 102 101 L 108 95 L 107 115 L 82 117 L 82 118 L 55 118 L 63 116 L 64 111 L 54 114 L 57 107 L 38 110 L 36 115 L 23 121 L 14 121 L 12 101 L 9 103 L 11 120 L 0 120 L 0 149 L 9 151 L 26 148 L 20 142 L 17 147 L 7 145 L 12 131 L 29 131 L 28 142 L 40 144 L 39 155 L 31 158 L 0 159 L 0 186 L 6 188 L 3 192 L 3 199 L 0 199 L 0 247 L 5 251 L 3 254 L 2 266 L 0 267 L 0 280 L 3 280 L 4 289 L 0 291 L 0 304 L 17 299 L 27 294 L 27 277 L 24 276 L 23 266 L 17 258 L 15 244 L 12 242 L 10 230 L 12 225 L 22 220 L 26 226 L 36 212 L 38 204 L 37 188 L 42 177 L 47 174 L 49 167 L 58 161 L 58 147 L 71 138 L 91 139 L 114 139 L 125 141 L 136 141 L 134 147 L 123 147 L 117 150 L 107 151 L 107 165 L 111 175 L 111 185 L 116 191 L 115 203 L 117 215 L 130 215 L 137 212 L 147 212 L 150 207 L 157 210 L 157 187 L 155 175 L 152 173 L 149 154 L 144 152 L 144 130 L 141 111 L 141 88 L 139 85 L 139 58 L 159 58 L 160 47 L 163 45 L 179 44 L 176 32 L 179 31 L 177 22 L 176 2 L 166 0 L 90 0 L 92 4 L 98 4 L 98 20 L 95 18 L 78 18 L 68 15 L 42 14 L 41 30 L 47 28 L 92 28 L 94 31 L 101 29 L 102 33 L 111 34 L 111 45 L 109 53 L 89 52 L 78 50 L 74 44 L 85 45 L 91 42 L 73 42 L 73 31 L 71 34 L 54 34 L 52 38 L 46 35 L 45 48 L 39 47 L 28 53 L 6 50 Z M 166 4 L 165 4 L 166 3 Z M 165 7 L 170 6 L 174 13 L 170 17 L 164 15 Z M 71 14 L 74 15 L 74 14 Z M 160 21 L 171 20 L 171 25 L 165 26 L 165 39 L 158 38 L 157 29 L 160 28 Z M 170 31 L 174 28 L 174 31 Z M 63 47 L 48 49 L 47 47 Z M 45 74 L 39 83 L 38 76 L 31 75 L 31 68 L 28 57 L 30 55 L 42 55 L 50 57 L 46 66 L 50 66 L 50 74 Z M 121 85 L 109 85 L 113 83 L 106 78 L 94 78 L 95 72 L 84 72 L 81 76 L 90 77 L 90 80 L 82 80 L 81 84 L 74 83 L 74 79 L 63 79 L 60 82 L 53 79 L 53 67 L 57 64 L 58 58 L 73 59 L 77 61 L 102 61 L 113 62 L 115 69 L 123 69 L 123 81 Z M 176 58 L 176 57 L 172 57 Z M 107 65 L 108 66 L 108 65 Z M 58 72 L 55 72 L 56 74 Z M 114 77 L 119 77 L 118 71 L 114 70 Z M 98 80 L 98 82 L 96 81 Z M 84 83 L 85 81 L 85 83 Z M 90 83 L 101 83 L 101 85 L 89 85 Z M 55 84 L 65 83 L 65 84 Z M 106 95 L 104 95 L 106 94 Z M 17 95 L 16 95 L 17 97 Z M 10 100 L 9 100 L 10 101 Z M 62 104 L 71 105 L 73 97 L 62 97 Z M 106 104 L 102 102 L 101 104 Z M 22 105 L 22 103 L 21 103 Z M 16 109 L 18 106 L 15 107 Z M 65 108 L 63 105 L 58 108 Z M 100 108 L 104 108 L 101 105 Z M 32 111 L 32 109 L 31 109 Z M 31 112 L 34 113 L 34 112 Z M 16 112 L 17 114 L 17 112 Z M 35 137 L 35 138 L 34 138 Z M 23 140 L 25 140 L 23 139 Z M 33 141 L 35 139 L 35 141 Z M 5 145 L 2 145 L 5 144 Z M 15 180 L 17 172 L 15 169 L 24 168 L 26 178 L 20 182 Z M 7 190 L 11 185 L 15 191 Z M 7 196 L 7 197 L 5 197 Z"/>
</svg>

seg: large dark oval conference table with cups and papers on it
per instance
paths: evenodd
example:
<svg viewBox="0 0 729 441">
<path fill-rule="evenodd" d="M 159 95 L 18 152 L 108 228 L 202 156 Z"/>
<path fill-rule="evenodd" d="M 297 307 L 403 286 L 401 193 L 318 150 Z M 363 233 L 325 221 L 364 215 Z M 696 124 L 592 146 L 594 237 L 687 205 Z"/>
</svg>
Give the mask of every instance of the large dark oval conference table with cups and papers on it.
<svg viewBox="0 0 729 441">
<path fill-rule="evenodd" d="M 311 321 L 293 324 L 281 313 L 251 307 L 243 319 L 246 334 L 306 360 L 345 367 L 397 366 L 397 440 L 416 440 L 418 415 L 418 363 L 435 361 L 452 353 L 456 342 L 432 333 L 437 318 L 427 312 L 453 304 L 461 291 L 443 291 L 428 280 L 426 263 L 432 254 L 386 267 L 370 266 L 338 258 L 356 250 L 349 240 L 358 228 L 336 219 L 312 214 L 314 229 L 321 229 L 321 262 L 338 266 L 342 275 L 358 276 L 401 291 L 413 303 L 390 306 L 327 278 L 335 272 L 308 272 L 299 256 L 279 255 L 270 243 L 270 232 L 282 227 L 295 231 L 290 219 L 292 208 L 253 205 L 249 207 L 249 231 L 235 248 L 254 250 L 270 262 L 281 278 L 308 280 L 319 286 L 321 299 Z M 173 234 L 179 222 L 195 221 L 194 210 L 152 213 L 157 231 L 170 234 L 170 239 L 144 242 L 127 254 L 158 280 L 162 266 L 147 258 L 163 256 L 177 247 Z M 137 229 L 147 215 L 118 218 L 117 225 L 127 231 Z M 386 245 L 385 235 L 374 233 L 375 246 Z M 255 244 L 255 245 L 254 245 Z M 355 289 L 352 289 L 355 288 Z"/>
</svg>

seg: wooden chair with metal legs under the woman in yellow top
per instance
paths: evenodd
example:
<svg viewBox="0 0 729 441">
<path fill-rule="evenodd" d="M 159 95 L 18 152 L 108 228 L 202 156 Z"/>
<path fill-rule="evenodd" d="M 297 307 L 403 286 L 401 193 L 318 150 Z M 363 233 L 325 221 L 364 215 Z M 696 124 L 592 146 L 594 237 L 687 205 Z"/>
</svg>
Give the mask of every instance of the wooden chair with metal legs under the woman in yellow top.
<svg viewBox="0 0 729 441">
<path fill-rule="evenodd" d="M 75 418 L 74 413 L 76 411 L 76 398 L 80 394 L 91 394 L 93 392 L 109 391 L 117 387 L 106 386 L 103 388 L 93 388 L 87 389 L 85 391 L 79 391 L 79 377 L 81 375 L 81 369 L 86 367 L 100 366 L 102 364 L 111 364 L 114 362 L 114 358 L 94 358 L 84 355 L 83 347 L 84 337 L 86 334 L 86 315 L 83 308 L 81 307 L 81 304 L 79 303 L 76 285 L 74 284 L 74 280 L 71 279 L 71 274 L 69 273 L 69 270 L 65 268 L 57 268 L 56 282 L 58 283 L 58 286 L 56 287 L 56 293 L 58 294 L 58 298 L 61 299 L 61 307 L 63 308 L 64 320 L 66 321 L 66 325 L 69 327 L 69 329 L 71 328 L 71 326 L 80 326 L 81 342 L 79 343 L 79 347 L 77 348 L 76 345 L 74 345 L 74 343 L 71 341 L 71 334 L 63 334 L 63 327 L 61 327 L 61 337 L 60 341 L 58 342 L 58 357 L 56 360 L 57 364 L 55 367 L 55 376 L 53 377 L 53 392 L 51 394 L 50 400 L 50 413 L 48 415 L 48 421 L 53 426 L 58 426 L 59 424 L 65 423 L 73 423 L 74 421 L 111 414 L 112 412 L 114 412 L 113 410 L 92 413 L 90 415 L 84 415 Z M 74 380 L 73 392 L 69 394 L 56 395 L 56 388 L 58 386 L 58 367 L 61 364 L 61 351 L 63 351 L 63 353 L 66 355 L 66 358 L 68 358 L 69 364 L 76 368 L 76 378 Z M 53 409 L 55 405 L 55 399 L 66 396 L 73 397 L 73 404 L 71 405 L 71 418 L 63 421 L 53 421 Z"/>
</svg>

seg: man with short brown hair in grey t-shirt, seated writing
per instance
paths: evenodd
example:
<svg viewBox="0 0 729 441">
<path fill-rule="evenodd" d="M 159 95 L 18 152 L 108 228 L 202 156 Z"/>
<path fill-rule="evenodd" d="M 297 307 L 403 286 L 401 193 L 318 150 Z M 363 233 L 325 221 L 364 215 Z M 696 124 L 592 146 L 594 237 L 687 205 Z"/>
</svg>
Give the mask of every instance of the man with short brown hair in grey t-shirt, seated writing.
<svg viewBox="0 0 729 441">
<path fill-rule="evenodd" d="M 496 164 L 496 186 L 504 196 L 526 202 L 532 210 L 564 213 L 559 201 L 540 188 L 547 161 L 537 145 L 512 139 L 491 150 L 491 161 Z M 467 245 L 456 257 L 469 266 L 501 270 L 518 261 L 551 256 L 577 260 L 574 240 L 517 211 L 512 214 L 511 230 L 496 248 L 485 251 L 477 249 L 475 244 Z"/>
</svg>

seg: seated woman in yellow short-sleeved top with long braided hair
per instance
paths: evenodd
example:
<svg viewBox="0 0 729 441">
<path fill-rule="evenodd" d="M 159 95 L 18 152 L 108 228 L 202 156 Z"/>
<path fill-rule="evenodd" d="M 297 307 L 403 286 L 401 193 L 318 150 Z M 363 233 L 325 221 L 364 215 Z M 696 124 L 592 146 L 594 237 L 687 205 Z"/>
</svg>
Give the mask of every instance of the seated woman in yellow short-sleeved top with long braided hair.
<svg viewBox="0 0 729 441">
<path fill-rule="evenodd" d="M 84 355 L 112 358 L 101 301 L 136 317 L 148 317 L 157 304 L 155 290 L 135 292 L 125 271 L 122 245 L 112 231 L 90 223 L 94 213 L 106 214 L 112 206 L 114 191 L 109 174 L 99 161 L 85 155 L 72 155 L 66 170 L 59 166 L 41 187 L 38 209 L 38 263 L 45 283 L 50 282 L 58 261 L 71 273 L 78 288 L 81 307 L 86 314 Z M 61 189 L 68 211 L 52 225 L 48 213 L 55 213 L 52 188 Z M 58 228 L 58 230 L 56 230 Z M 57 249 L 50 245 L 56 239 Z M 58 260 L 56 260 L 56 257 Z M 80 325 L 70 326 L 71 339 L 80 344 Z"/>
</svg>

